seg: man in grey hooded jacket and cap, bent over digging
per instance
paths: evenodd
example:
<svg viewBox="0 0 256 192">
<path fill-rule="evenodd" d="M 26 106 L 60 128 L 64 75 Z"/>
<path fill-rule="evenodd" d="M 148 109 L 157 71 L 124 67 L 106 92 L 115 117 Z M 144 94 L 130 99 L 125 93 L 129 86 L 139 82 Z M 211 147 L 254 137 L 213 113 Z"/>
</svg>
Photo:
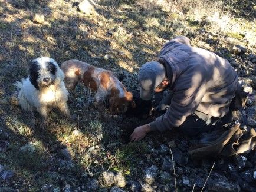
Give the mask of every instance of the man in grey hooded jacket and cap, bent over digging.
<svg viewBox="0 0 256 192">
<path fill-rule="evenodd" d="M 147 62 L 139 69 L 140 107 L 151 107 L 155 92 L 168 90 L 159 105 L 169 106 L 155 121 L 137 127 L 131 141 L 142 140 L 150 131 L 179 128 L 195 136 L 214 125 L 232 121 L 231 101 L 241 90 L 238 75 L 229 62 L 205 49 L 191 47 L 187 37 L 166 43 L 158 61 Z M 234 100 L 233 100 L 234 102 Z"/>
</svg>

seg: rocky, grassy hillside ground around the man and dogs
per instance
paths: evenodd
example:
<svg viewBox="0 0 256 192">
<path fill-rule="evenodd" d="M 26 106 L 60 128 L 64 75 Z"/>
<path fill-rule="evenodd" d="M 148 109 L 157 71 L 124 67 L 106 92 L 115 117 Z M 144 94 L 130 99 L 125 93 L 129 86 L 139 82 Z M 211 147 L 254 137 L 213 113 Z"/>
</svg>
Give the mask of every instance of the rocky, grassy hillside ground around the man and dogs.
<svg viewBox="0 0 256 192">
<path fill-rule="evenodd" d="M 38 114 L 15 100 L 12 83 L 42 55 L 110 69 L 137 90 L 140 65 L 168 39 L 186 35 L 231 62 L 255 129 L 255 2 L 203 2 L 0 0 L 0 191 L 255 191 L 255 151 L 193 160 L 191 140 L 179 131 L 129 143 L 133 128 L 153 117 L 101 114 L 81 85 L 68 104 L 72 120 L 53 111 L 44 130 Z"/>
</svg>

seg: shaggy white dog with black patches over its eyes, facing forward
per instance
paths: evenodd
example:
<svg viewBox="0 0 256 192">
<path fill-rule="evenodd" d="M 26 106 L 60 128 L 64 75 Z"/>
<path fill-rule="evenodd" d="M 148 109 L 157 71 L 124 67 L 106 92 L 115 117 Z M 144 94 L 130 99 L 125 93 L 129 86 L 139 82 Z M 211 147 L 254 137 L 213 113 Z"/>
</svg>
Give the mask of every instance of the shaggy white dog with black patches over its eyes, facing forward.
<svg viewBox="0 0 256 192">
<path fill-rule="evenodd" d="M 54 59 L 41 57 L 34 59 L 30 75 L 15 85 L 19 88 L 18 101 L 25 111 L 37 110 L 44 120 L 52 107 L 58 108 L 70 117 L 67 106 L 68 91 L 64 84 L 64 73 Z"/>
</svg>

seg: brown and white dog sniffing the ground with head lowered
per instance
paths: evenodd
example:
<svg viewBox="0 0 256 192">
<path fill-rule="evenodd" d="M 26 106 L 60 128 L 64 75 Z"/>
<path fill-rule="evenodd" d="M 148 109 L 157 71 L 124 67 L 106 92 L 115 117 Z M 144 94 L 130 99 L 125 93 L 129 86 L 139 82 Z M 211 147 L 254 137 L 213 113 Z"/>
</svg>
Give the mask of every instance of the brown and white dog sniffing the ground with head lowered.
<svg viewBox="0 0 256 192">
<path fill-rule="evenodd" d="M 126 90 L 113 72 L 97 68 L 79 60 L 68 60 L 61 64 L 65 74 L 65 84 L 69 91 L 74 91 L 78 82 L 96 92 L 96 105 L 109 101 L 111 114 L 126 112 L 129 105 L 135 107 L 133 94 Z"/>
</svg>

